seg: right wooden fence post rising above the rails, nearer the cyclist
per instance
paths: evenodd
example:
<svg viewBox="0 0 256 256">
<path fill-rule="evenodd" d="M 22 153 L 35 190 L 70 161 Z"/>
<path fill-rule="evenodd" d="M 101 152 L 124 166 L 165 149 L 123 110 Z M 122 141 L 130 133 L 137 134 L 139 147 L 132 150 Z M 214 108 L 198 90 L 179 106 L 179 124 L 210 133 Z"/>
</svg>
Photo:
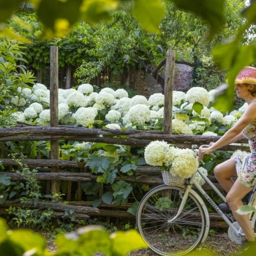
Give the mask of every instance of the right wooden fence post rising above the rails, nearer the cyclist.
<svg viewBox="0 0 256 256">
<path fill-rule="evenodd" d="M 165 65 L 165 113 L 164 113 L 164 134 L 173 133 L 173 81 L 175 69 L 175 50 L 167 50 Z"/>
</svg>

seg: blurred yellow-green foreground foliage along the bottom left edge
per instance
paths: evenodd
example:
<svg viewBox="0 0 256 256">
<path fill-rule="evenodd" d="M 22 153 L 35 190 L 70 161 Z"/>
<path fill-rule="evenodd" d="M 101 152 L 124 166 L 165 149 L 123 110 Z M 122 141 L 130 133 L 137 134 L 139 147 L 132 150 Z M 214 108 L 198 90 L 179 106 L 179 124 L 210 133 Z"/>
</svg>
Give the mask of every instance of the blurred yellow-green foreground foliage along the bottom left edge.
<svg viewBox="0 0 256 256">
<path fill-rule="evenodd" d="M 100 239 L 99 239 L 100 238 Z M 56 252 L 48 252 L 45 238 L 31 230 L 8 230 L 7 223 L 0 219 L 0 251 L 2 256 L 68 256 L 94 255 L 103 252 L 106 255 L 125 256 L 135 249 L 147 245 L 137 231 L 118 231 L 111 235 L 101 226 L 80 227 L 75 232 L 59 234 L 56 237 Z"/>
</svg>

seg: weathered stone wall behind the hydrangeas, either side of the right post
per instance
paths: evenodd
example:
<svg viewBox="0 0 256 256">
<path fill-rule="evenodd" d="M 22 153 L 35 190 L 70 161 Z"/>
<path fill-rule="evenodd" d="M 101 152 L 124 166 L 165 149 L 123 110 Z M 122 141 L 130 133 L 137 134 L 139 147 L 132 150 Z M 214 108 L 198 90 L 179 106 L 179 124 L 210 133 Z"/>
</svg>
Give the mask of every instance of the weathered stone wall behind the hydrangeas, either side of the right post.
<svg viewBox="0 0 256 256">
<path fill-rule="evenodd" d="M 134 84 L 135 91 L 138 91 L 145 97 L 150 97 L 151 94 L 162 93 L 162 86 L 157 83 L 151 75 L 143 70 L 135 72 L 134 80 L 130 84 Z M 189 90 L 192 82 L 192 67 L 184 64 L 176 64 L 176 70 L 174 75 L 173 90 L 175 91 L 187 91 Z"/>
</svg>

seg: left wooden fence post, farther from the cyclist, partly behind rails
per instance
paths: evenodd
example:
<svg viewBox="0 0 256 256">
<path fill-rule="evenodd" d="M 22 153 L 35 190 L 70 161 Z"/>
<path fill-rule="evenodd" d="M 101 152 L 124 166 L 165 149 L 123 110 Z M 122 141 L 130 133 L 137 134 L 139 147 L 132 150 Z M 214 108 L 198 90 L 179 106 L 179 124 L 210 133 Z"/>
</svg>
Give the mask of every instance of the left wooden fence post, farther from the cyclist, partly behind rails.
<svg viewBox="0 0 256 256">
<path fill-rule="evenodd" d="M 50 127 L 58 127 L 58 89 L 59 64 L 58 47 L 50 46 Z M 50 159 L 59 159 L 59 140 L 50 140 Z M 51 167 L 52 173 L 58 173 L 59 167 Z M 60 191 L 60 181 L 51 181 L 51 192 Z"/>
</svg>

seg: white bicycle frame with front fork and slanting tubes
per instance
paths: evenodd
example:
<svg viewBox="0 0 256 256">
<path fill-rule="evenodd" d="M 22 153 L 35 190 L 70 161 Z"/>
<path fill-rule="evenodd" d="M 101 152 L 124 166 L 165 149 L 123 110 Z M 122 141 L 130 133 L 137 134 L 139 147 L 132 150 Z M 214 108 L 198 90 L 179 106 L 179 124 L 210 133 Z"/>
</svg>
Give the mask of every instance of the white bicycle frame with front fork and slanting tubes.
<svg viewBox="0 0 256 256">
<path fill-rule="evenodd" d="M 224 195 L 222 195 L 221 192 L 219 192 L 219 189 L 217 189 L 217 187 L 206 177 L 206 175 L 203 174 L 203 172 L 201 170 L 197 170 L 198 173 L 200 173 L 200 176 L 203 177 L 203 179 L 210 185 L 210 187 L 212 189 L 214 189 L 215 192 L 217 192 L 217 195 L 219 195 L 219 197 L 222 198 L 222 200 L 227 203 L 227 200 L 225 198 Z M 181 211 L 183 210 L 184 208 L 184 205 L 187 201 L 187 197 L 189 195 L 189 192 L 193 191 L 194 190 L 192 189 L 192 185 L 194 184 L 195 187 L 200 191 L 200 193 L 206 198 L 206 200 L 208 200 L 208 202 L 211 204 L 211 206 L 214 207 L 214 209 L 217 211 L 217 213 L 222 217 L 222 219 L 225 220 L 225 222 L 227 223 L 227 225 L 229 225 L 233 231 L 238 235 L 238 236 L 244 236 L 244 233 L 241 233 L 241 228 L 237 229 L 234 225 L 233 225 L 233 222 L 230 222 L 230 219 L 227 218 L 227 216 L 220 210 L 220 208 L 217 206 L 216 203 L 214 203 L 214 201 L 211 199 L 211 197 L 209 197 L 206 192 L 203 190 L 203 188 L 195 181 L 195 176 L 196 176 L 196 173 L 194 173 L 192 175 L 192 177 L 189 179 L 189 184 L 187 185 L 187 188 L 184 188 L 184 196 L 183 196 L 183 199 L 181 201 L 181 206 L 180 208 L 178 209 L 178 212 L 176 214 L 175 217 L 173 217 L 172 219 L 169 220 L 169 222 L 173 222 L 173 220 L 177 219 L 178 216 L 181 214 Z M 250 202 L 249 202 L 249 205 L 251 206 L 256 206 L 256 192 L 254 193 L 254 195 L 252 196 Z M 249 218 L 251 219 L 252 217 L 252 214 L 249 214 Z M 253 214 L 253 217 L 252 217 L 252 227 L 254 227 L 255 225 L 255 219 L 256 219 L 256 214 Z"/>
</svg>

